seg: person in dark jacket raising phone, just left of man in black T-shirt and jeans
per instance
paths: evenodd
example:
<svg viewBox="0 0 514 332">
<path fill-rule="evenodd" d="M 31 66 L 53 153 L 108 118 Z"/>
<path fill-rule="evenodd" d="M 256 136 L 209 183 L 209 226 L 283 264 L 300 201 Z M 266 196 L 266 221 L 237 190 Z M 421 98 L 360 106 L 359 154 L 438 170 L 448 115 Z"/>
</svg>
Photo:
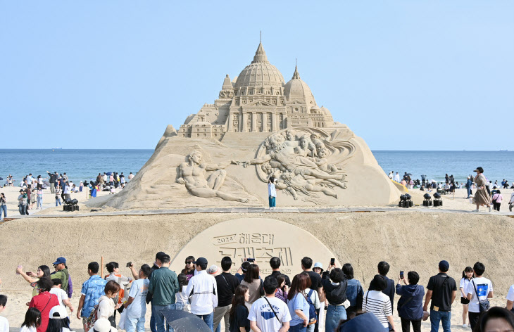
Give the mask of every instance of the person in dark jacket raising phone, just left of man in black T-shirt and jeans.
<svg viewBox="0 0 514 332">
<path fill-rule="evenodd" d="M 402 331 L 409 331 L 409 326 L 412 324 L 414 332 L 421 332 L 425 288 L 418 285 L 418 281 L 420 281 L 420 275 L 417 272 L 408 272 L 407 280 L 403 276 L 403 271 L 400 272 L 400 277 L 396 284 L 396 294 L 400 295 L 398 315 L 401 319 Z"/>
</svg>

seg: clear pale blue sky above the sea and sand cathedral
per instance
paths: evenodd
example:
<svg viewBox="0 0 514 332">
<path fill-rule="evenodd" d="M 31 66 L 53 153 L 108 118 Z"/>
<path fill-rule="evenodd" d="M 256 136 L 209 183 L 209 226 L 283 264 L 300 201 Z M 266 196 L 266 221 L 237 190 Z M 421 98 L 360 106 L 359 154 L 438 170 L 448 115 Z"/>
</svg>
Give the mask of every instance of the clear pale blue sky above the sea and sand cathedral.
<svg viewBox="0 0 514 332">
<path fill-rule="evenodd" d="M 0 1 L 1 148 L 154 148 L 262 30 L 372 149 L 514 150 L 514 1 L 319 3 Z"/>
</svg>

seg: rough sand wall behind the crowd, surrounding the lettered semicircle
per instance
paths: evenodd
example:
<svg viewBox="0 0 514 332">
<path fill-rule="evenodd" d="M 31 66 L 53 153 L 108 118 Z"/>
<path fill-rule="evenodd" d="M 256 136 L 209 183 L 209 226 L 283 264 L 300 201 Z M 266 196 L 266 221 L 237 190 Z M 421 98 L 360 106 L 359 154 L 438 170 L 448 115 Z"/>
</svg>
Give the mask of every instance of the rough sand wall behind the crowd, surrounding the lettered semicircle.
<svg viewBox="0 0 514 332">
<path fill-rule="evenodd" d="M 87 263 L 153 262 L 164 250 L 171 257 L 196 234 L 230 219 L 263 217 L 244 214 L 194 214 L 20 219 L 0 225 L 0 278 L 3 291 L 26 290 L 15 275 L 22 264 L 35 271 L 39 264 L 51 266 L 55 258 L 68 259 L 75 291 L 87 279 Z M 340 262 L 351 262 L 356 278 L 368 284 L 377 262 L 391 264 L 391 278 L 400 270 L 415 270 L 426 285 L 437 273 L 437 262 L 448 260 L 450 274 L 460 279 L 467 265 L 480 260 L 485 276 L 494 283 L 495 295 L 506 295 L 514 283 L 514 219 L 498 215 L 417 212 L 367 212 L 324 214 L 268 214 L 305 229 L 325 243 Z M 327 264 L 330 257 L 326 258 Z"/>
</svg>

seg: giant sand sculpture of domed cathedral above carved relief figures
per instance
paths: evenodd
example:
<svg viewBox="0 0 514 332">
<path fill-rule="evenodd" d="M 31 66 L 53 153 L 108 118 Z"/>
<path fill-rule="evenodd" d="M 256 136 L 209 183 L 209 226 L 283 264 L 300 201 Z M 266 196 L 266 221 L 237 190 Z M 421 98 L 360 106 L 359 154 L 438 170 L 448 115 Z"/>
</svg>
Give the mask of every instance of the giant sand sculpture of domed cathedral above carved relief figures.
<svg viewBox="0 0 514 332">
<path fill-rule="evenodd" d="M 180 129 L 166 128 L 123 191 L 88 205 L 262 206 L 270 176 L 279 206 L 387 205 L 401 194 L 365 141 L 318 106 L 298 67 L 284 82 L 259 44 L 238 77 L 225 77 L 213 104 Z"/>
</svg>

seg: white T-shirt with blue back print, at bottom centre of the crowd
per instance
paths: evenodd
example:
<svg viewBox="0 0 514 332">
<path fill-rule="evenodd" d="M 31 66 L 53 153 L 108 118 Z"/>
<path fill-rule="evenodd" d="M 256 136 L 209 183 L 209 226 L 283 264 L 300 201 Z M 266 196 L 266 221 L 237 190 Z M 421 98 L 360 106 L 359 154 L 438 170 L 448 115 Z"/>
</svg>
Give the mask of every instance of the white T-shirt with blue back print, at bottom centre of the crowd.
<svg viewBox="0 0 514 332">
<path fill-rule="evenodd" d="M 270 305 L 272 305 L 280 321 L 275 318 L 275 314 L 273 314 L 272 309 L 266 300 L 270 302 Z M 257 327 L 261 331 L 279 331 L 280 328 L 282 328 L 282 323 L 291 320 L 291 314 L 289 313 L 289 308 L 284 301 L 275 297 L 266 297 L 253 302 L 248 315 L 248 320 L 255 321 Z"/>
</svg>

